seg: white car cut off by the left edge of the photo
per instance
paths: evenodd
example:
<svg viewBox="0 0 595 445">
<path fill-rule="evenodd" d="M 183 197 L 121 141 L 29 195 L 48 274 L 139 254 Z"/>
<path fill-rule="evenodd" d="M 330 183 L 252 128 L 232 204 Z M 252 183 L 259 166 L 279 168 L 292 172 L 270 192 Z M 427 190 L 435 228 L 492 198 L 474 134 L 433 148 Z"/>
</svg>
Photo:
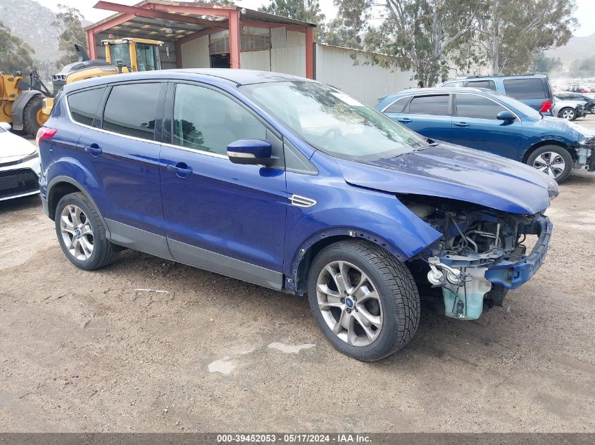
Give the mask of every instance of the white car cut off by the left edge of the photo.
<svg viewBox="0 0 595 445">
<path fill-rule="evenodd" d="M 0 201 L 39 193 L 39 155 L 27 139 L 0 122 Z"/>
</svg>

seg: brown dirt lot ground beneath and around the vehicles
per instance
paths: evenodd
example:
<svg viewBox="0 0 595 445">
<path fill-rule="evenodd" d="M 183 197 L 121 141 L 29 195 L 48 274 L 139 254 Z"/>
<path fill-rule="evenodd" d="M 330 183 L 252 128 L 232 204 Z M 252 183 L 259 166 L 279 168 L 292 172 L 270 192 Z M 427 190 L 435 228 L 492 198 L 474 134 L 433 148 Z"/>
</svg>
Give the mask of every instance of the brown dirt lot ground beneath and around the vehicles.
<svg viewBox="0 0 595 445">
<path fill-rule="evenodd" d="M 0 202 L 0 430 L 595 432 L 595 174 L 561 191 L 549 261 L 504 308 L 424 299 L 372 364 L 306 299 L 131 251 L 80 271 L 39 198 Z"/>
</svg>

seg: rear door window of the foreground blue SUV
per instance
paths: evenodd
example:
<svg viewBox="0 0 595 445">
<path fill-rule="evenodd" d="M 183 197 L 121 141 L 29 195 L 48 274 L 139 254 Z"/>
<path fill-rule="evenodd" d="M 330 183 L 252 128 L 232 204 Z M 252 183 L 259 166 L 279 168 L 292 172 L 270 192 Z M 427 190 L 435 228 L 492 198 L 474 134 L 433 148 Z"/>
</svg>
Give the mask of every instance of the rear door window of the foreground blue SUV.
<svg viewBox="0 0 595 445">
<path fill-rule="evenodd" d="M 160 91 L 160 83 L 113 86 L 102 128 L 153 141 Z"/>
</svg>

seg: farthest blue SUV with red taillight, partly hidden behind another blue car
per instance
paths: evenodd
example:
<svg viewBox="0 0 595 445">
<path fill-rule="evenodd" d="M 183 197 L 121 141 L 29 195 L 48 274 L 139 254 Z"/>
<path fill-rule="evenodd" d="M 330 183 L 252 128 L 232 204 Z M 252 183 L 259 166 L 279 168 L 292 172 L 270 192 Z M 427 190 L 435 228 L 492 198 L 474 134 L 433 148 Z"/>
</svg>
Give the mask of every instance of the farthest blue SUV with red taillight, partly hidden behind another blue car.
<svg viewBox="0 0 595 445">
<path fill-rule="evenodd" d="M 544 115 L 552 115 L 553 91 L 549 79 L 544 75 L 474 76 L 447 80 L 439 86 L 490 89 L 511 96 Z"/>
</svg>

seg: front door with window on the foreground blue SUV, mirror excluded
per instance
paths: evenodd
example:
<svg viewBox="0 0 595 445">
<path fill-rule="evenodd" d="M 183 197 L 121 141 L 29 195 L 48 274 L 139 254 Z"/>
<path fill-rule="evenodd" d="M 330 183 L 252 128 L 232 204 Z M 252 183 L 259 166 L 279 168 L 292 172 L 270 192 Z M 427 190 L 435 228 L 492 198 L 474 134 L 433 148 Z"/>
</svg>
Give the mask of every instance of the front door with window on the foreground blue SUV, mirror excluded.
<svg viewBox="0 0 595 445">
<path fill-rule="evenodd" d="M 280 136 L 206 85 L 170 84 L 167 109 L 161 196 L 174 259 L 280 289 L 287 209 Z M 278 166 L 233 164 L 227 145 L 246 138 L 269 141 Z"/>
</svg>

